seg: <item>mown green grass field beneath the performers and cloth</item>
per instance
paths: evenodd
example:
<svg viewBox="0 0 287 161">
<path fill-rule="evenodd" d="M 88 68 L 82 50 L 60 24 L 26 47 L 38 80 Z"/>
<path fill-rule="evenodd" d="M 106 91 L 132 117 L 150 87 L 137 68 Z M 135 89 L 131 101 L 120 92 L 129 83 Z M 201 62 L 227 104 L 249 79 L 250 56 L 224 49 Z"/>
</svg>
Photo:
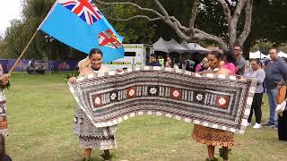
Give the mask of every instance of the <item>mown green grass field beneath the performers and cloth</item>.
<svg viewBox="0 0 287 161">
<path fill-rule="evenodd" d="M 12 87 L 5 91 L 10 131 L 6 151 L 13 160 L 81 160 L 83 149 L 72 131 L 75 101 L 65 72 L 14 72 L 11 81 Z M 266 123 L 267 105 L 263 109 Z M 118 126 L 114 160 L 204 160 L 206 148 L 190 138 L 192 129 L 190 123 L 160 116 L 129 119 Z M 244 135 L 236 135 L 236 142 L 231 161 L 287 160 L 287 142 L 279 141 L 274 129 L 248 128 Z M 93 150 L 92 160 L 100 160 L 100 153 Z"/>
</svg>

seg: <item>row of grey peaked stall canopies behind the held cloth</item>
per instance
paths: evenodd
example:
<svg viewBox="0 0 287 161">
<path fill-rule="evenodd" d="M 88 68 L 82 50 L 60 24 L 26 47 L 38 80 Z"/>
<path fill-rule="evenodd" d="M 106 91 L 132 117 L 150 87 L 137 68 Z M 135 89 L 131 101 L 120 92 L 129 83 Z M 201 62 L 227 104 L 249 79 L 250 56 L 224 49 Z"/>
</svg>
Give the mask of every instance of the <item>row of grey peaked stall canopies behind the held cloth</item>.
<svg viewBox="0 0 287 161">
<path fill-rule="evenodd" d="M 157 42 L 153 44 L 153 48 L 155 51 L 161 51 L 165 53 L 170 52 L 177 52 L 179 54 L 181 53 L 207 53 L 208 50 L 206 50 L 204 47 L 200 47 L 196 43 L 189 43 L 187 44 L 186 41 L 183 41 L 181 44 L 178 44 L 176 40 L 173 38 L 170 41 L 166 41 L 163 38 L 160 38 Z"/>
</svg>

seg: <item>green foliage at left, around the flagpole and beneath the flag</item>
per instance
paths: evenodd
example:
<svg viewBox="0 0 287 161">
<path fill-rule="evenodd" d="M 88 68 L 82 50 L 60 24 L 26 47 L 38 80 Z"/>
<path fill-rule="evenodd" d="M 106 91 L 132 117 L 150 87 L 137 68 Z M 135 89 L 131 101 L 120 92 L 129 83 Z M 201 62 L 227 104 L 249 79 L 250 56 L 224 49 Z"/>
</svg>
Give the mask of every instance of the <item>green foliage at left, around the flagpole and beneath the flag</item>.
<svg viewBox="0 0 287 161">
<path fill-rule="evenodd" d="M 11 27 L 5 32 L 5 38 L 0 40 L 0 56 L 18 58 L 54 3 L 55 0 L 23 0 L 22 20 L 11 21 Z M 45 35 L 41 31 L 37 33 L 23 58 L 67 60 L 85 56 L 57 40 L 47 43 Z"/>
</svg>

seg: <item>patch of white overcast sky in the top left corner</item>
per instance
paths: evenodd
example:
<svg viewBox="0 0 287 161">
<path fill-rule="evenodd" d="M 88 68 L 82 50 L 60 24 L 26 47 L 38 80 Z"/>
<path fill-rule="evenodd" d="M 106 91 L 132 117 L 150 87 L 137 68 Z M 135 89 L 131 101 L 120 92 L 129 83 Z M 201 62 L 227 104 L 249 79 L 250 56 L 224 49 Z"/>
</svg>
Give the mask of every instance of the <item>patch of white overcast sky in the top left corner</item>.
<svg viewBox="0 0 287 161">
<path fill-rule="evenodd" d="M 21 0 L 1 0 L 0 35 L 4 34 L 7 27 L 11 26 L 11 20 L 21 19 L 21 12 Z"/>
</svg>

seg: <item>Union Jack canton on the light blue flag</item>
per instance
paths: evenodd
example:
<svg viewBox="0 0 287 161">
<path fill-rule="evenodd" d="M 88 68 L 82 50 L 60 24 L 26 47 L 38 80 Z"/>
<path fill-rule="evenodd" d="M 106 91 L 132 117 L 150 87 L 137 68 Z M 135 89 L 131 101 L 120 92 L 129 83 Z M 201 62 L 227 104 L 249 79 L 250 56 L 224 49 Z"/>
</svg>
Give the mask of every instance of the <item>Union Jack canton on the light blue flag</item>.
<svg viewBox="0 0 287 161">
<path fill-rule="evenodd" d="M 92 4 L 92 0 L 59 0 L 59 4 L 65 6 L 90 25 L 102 18 L 102 14 L 98 7 Z"/>
</svg>

